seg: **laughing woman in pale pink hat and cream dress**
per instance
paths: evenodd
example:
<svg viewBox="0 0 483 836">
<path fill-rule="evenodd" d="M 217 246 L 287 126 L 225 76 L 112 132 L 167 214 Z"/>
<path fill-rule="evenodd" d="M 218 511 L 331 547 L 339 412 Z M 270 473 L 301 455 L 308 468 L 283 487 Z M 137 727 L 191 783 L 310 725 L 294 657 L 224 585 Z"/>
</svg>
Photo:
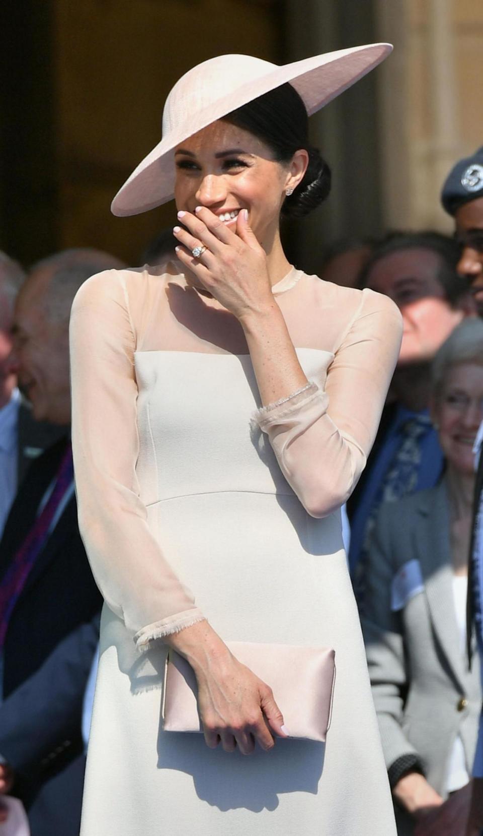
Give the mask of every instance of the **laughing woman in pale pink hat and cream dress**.
<svg viewBox="0 0 483 836">
<path fill-rule="evenodd" d="M 179 246 L 157 268 L 98 274 L 73 304 L 79 521 L 106 601 L 82 836 L 395 834 L 340 506 L 400 315 L 297 270 L 279 237 L 280 213 L 329 191 L 307 115 L 389 51 L 200 64 L 114 198 L 129 215 L 174 196 Z M 194 692 L 188 674 L 165 678 L 168 649 Z M 321 649 L 337 667 L 326 742 L 328 680 L 304 663 Z"/>
</svg>

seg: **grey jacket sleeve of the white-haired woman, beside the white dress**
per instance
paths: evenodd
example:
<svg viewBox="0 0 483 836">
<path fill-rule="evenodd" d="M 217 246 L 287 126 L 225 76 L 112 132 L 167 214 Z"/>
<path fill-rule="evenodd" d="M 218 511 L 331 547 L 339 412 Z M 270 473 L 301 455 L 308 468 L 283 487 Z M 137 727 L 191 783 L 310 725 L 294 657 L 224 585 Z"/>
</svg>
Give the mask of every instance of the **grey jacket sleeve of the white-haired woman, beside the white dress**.
<svg viewBox="0 0 483 836">
<path fill-rule="evenodd" d="M 392 510 L 392 509 L 391 509 Z M 404 637 L 400 617 L 391 610 L 394 571 L 390 560 L 390 515 L 381 513 L 365 564 L 364 611 L 361 625 L 372 696 L 388 770 L 401 758 L 420 763 L 415 747 L 402 729 L 407 688 Z"/>
</svg>

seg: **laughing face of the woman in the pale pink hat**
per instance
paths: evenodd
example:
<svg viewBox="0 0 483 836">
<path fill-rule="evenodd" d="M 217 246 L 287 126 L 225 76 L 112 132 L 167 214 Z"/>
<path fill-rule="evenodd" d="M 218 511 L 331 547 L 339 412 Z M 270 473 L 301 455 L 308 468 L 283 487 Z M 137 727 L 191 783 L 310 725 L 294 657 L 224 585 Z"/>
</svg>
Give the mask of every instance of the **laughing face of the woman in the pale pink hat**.
<svg viewBox="0 0 483 836">
<path fill-rule="evenodd" d="M 174 159 L 178 210 L 207 206 L 234 230 L 239 210 L 248 209 L 249 225 L 265 249 L 279 228 L 285 190 L 304 173 L 299 169 L 297 176 L 297 163 L 274 161 L 268 145 L 222 120 L 184 140 Z"/>
</svg>

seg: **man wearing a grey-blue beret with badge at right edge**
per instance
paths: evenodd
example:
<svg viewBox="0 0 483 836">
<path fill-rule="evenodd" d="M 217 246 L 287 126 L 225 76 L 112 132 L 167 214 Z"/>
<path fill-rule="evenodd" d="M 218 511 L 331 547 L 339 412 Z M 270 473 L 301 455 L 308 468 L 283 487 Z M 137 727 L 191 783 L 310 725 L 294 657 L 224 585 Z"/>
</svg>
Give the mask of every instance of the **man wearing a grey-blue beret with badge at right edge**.
<svg viewBox="0 0 483 836">
<path fill-rule="evenodd" d="M 460 160 L 446 177 L 441 203 L 455 218 L 455 237 L 461 245 L 458 272 L 468 279 L 471 292 L 483 316 L 483 147 Z M 478 462 L 468 568 L 467 648 L 471 660 L 471 640 L 475 632 L 483 659 L 483 425 L 476 436 L 475 461 Z M 466 836 L 483 833 L 483 714 L 473 767 L 470 815 Z"/>
</svg>

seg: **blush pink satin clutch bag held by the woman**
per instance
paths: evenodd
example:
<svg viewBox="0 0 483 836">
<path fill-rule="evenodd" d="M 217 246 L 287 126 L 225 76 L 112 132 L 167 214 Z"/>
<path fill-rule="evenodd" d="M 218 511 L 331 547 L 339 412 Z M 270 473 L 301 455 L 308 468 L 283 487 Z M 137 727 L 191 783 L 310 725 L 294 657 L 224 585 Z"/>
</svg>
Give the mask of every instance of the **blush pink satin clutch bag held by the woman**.
<svg viewBox="0 0 483 836">
<path fill-rule="evenodd" d="M 325 742 L 335 685 L 335 651 L 328 647 L 227 642 L 236 659 L 270 686 L 290 737 Z M 169 650 L 164 677 L 164 732 L 201 732 L 191 665 Z"/>
</svg>

